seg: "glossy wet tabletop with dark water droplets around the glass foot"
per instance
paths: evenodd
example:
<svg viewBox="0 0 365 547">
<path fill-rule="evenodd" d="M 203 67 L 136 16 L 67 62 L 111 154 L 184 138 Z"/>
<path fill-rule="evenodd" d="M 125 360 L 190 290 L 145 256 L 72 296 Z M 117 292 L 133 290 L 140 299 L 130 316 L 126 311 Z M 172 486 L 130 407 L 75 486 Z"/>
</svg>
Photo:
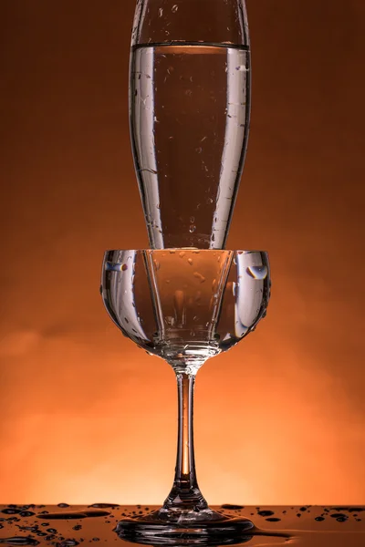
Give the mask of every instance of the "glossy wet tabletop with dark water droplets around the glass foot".
<svg viewBox="0 0 365 547">
<path fill-rule="evenodd" d="M 114 532 L 123 516 L 138 518 L 154 506 L 93 503 L 90 505 L 0 505 L 0 543 L 5 545 L 55 545 L 67 547 L 102 542 L 131 543 Z M 240 506 L 215 507 L 255 522 L 245 543 L 252 546 L 363 547 L 365 505 L 360 506 Z M 154 544 L 151 542 L 151 544 Z M 172 543 L 190 544 L 183 537 Z"/>
</svg>

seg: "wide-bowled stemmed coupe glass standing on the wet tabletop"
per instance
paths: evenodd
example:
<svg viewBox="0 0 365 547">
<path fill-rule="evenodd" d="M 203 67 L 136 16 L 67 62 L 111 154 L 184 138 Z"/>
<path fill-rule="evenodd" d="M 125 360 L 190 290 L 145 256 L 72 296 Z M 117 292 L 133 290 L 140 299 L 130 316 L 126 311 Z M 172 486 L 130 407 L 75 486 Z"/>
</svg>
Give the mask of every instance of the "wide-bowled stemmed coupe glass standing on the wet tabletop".
<svg viewBox="0 0 365 547">
<path fill-rule="evenodd" d="M 129 541 L 156 545 L 172 544 L 176 538 L 180 543 L 182 538 L 205 544 L 242 542 L 254 526 L 252 521 L 211 510 L 198 487 L 193 386 L 207 359 L 235 346 L 266 315 L 270 296 L 267 254 L 194 249 L 107 251 L 100 292 L 123 335 L 172 366 L 179 397 L 172 490 L 159 511 L 125 518 L 116 532 Z"/>
</svg>

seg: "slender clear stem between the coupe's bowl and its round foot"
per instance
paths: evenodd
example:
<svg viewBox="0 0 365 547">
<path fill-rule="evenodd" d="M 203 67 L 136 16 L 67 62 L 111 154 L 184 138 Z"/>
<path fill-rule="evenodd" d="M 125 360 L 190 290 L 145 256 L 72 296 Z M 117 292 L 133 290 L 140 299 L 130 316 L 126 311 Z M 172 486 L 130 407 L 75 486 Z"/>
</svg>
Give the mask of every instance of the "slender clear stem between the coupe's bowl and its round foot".
<svg viewBox="0 0 365 547">
<path fill-rule="evenodd" d="M 195 375 L 176 372 L 179 429 L 175 479 L 165 509 L 201 511 L 208 507 L 196 480 L 193 450 L 193 388 Z"/>
</svg>

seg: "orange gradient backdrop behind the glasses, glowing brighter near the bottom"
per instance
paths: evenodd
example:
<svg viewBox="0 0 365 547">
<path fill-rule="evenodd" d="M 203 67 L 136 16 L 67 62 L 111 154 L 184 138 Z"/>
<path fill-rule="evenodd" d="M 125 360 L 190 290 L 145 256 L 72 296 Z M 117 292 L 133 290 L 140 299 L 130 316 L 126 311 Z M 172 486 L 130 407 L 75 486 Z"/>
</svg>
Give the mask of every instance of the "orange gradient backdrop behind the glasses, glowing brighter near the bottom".
<svg viewBox="0 0 365 547">
<path fill-rule="evenodd" d="M 253 110 L 228 247 L 269 251 L 254 335 L 197 377 L 211 503 L 365 501 L 363 0 L 247 0 Z M 148 246 L 133 0 L 0 3 L 0 503 L 159 503 L 172 369 L 112 325 L 107 248 Z M 361 233 L 362 232 L 362 233 Z"/>
</svg>

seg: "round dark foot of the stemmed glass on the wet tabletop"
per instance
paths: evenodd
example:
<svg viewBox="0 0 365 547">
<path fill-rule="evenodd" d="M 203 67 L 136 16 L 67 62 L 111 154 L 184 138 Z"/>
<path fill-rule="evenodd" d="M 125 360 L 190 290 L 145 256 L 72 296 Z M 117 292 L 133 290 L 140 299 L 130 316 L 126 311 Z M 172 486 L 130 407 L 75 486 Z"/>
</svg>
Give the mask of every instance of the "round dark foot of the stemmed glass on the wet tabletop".
<svg viewBox="0 0 365 547">
<path fill-rule="evenodd" d="M 232 545 L 248 542 L 254 523 L 211 509 L 159 511 L 118 522 L 114 532 L 128 542 L 148 545 Z"/>
</svg>

